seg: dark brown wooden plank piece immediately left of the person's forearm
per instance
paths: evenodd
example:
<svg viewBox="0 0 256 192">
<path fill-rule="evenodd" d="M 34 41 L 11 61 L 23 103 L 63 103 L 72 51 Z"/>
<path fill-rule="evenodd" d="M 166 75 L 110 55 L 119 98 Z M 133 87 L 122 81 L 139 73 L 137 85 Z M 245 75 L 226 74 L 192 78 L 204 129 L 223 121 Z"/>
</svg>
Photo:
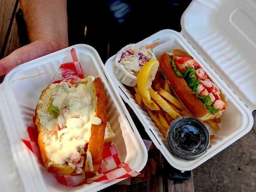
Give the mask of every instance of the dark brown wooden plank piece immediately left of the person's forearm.
<svg viewBox="0 0 256 192">
<path fill-rule="evenodd" d="M 15 13 L 18 11 L 20 8 L 20 4 L 18 4 Z M 15 49 L 20 48 L 20 42 L 19 42 L 19 35 L 18 35 L 18 25 L 17 25 L 17 20 L 14 18 L 12 25 L 11 25 L 11 31 L 10 35 L 8 36 L 7 39 L 7 45 L 5 47 L 5 52 L 4 52 L 4 57 L 13 52 Z"/>
</svg>

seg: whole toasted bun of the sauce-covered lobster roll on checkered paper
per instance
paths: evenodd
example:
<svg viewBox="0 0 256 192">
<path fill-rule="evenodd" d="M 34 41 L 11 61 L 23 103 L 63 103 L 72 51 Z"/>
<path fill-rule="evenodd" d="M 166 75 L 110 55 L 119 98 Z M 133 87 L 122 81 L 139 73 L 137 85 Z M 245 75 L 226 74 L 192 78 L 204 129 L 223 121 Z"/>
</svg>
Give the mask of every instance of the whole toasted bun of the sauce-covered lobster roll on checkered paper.
<svg viewBox="0 0 256 192">
<path fill-rule="evenodd" d="M 52 138 L 57 138 L 58 131 L 57 129 L 49 128 L 45 125 L 45 117 L 50 122 L 56 118 L 53 114 L 49 114 L 48 109 L 52 106 L 53 103 L 53 96 L 57 93 L 60 88 L 60 84 L 50 84 L 45 90 L 42 91 L 42 94 L 39 98 L 39 101 L 36 106 L 36 113 L 35 113 L 35 125 L 38 128 L 38 145 L 39 150 L 41 152 L 42 160 L 44 161 L 44 165 L 47 167 L 48 172 L 60 175 L 70 175 L 71 173 L 75 172 L 76 168 L 72 165 L 69 165 L 68 162 L 58 164 L 54 162 L 52 155 L 47 151 L 50 144 L 52 143 Z M 102 161 L 102 150 L 104 140 L 106 142 L 112 142 L 114 133 L 110 128 L 109 124 L 106 127 L 106 95 L 103 89 L 103 85 L 99 78 L 95 79 L 91 85 L 91 93 L 92 101 L 91 103 L 96 103 L 95 108 L 92 108 L 92 116 L 98 117 L 101 119 L 101 123 L 99 125 L 89 124 L 91 136 L 89 139 L 89 146 L 87 151 L 80 151 L 79 153 L 82 155 L 84 153 L 91 153 L 91 158 L 93 159 L 92 171 L 97 171 L 99 166 L 101 165 Z M 74 103 L 75 104 L 75 103 Z M 93 104 L 92 104 L 93 105 Z M 74 117 L 75 118 L 75 117 Z M 90 123 L 91 121 L 89 121 Z M 93 122 L 93 121 L 92 121 Z M 47 124 L 48 125 L 48 124 Z M 65 129 L 65 128 L 64 128 Z M 105 134 L 105 130 L 107 131 Z M 62 131 L 62 130 L 61 130 Z M 68 133 L 66 133 L 68 134 Z M 84 146 L 86 143 L 84 143 Z M 74 151 L 76 152 L 76 151 Z M 88 156 L 88 155 L 87 155 Z M 68 157 L 67 159 L 71 159 Z M 84 160 L 88 162 L 86 158 Z M 90 163 L 87 163 L 89 166 Z"/>
</svg>

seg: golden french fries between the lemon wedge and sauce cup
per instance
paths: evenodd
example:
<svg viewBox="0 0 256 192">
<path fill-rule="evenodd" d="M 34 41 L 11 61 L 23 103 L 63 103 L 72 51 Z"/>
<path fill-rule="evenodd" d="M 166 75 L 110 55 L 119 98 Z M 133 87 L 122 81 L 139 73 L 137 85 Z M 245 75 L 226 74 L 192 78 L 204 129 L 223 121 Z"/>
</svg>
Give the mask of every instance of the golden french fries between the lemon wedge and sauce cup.
<svg viewBox="0 0 256 192">
<path fill-rule="evenodd" d="M 176 98 L 176 95 L 170 89 L 169 83 L 164 78 L 155 79 L 153 81 L 149 89 L 151 96 L 150 101 L 140 94 L 138 87 L 134 87 L 134 90 L 136 103 L 148 113 L 165 139 L 169 125 L 173 120 L 181 116 L 192 117 L 188 110 L 185 109 L 182 103 Z M 219 130 L 219 122 L 220 119 L 207 121 L 212 128 L 217 130 Z M 210 135 L 210 139 L 214 137 L 215 135 Z"/>
</svg>

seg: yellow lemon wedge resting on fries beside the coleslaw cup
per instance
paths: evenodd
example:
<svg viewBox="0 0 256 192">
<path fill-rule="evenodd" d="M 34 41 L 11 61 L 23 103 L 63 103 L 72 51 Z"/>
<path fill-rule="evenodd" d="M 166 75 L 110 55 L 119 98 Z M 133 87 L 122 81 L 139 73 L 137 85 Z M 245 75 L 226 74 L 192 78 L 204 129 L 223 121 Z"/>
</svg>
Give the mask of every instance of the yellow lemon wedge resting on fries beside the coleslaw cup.
<svg viewBox="0 0 256 192">
<path fill-rule="evenodd" d="M 150 101 L 151 97 L 148 89 L 152 85 L 152 81 L 155 79 L 159 67 L 158 60 L 148 61 L 139 71 L 138 74 L 138 88 L 143 97 Z"/>
</svg>

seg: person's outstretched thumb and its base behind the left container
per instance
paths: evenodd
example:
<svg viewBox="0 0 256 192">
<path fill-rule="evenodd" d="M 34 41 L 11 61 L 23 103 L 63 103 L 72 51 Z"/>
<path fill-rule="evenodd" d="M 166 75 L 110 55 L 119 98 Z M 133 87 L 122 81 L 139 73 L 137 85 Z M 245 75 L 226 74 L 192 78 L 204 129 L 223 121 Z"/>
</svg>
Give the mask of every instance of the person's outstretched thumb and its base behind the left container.
<svg viewBox="0 0 256 192">
<path fill-rule="evenodd" d="M 42 57 L 46 54 L 64 48 L 59 44 L 54 45 L 45 40 L 37 40 L 25 45 L 0 60 L 0 76 L 7 74 L 14 67 L 27 61 Z"/>
</svg>

